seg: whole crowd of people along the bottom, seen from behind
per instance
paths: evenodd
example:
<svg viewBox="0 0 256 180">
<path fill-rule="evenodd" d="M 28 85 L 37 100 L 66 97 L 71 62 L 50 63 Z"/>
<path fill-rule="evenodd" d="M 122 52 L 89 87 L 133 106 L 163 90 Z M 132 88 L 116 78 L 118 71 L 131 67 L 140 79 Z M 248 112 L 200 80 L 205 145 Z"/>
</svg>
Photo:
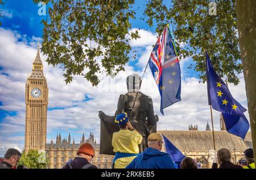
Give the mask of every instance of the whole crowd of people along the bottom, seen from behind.
<svg viewBox="0 0 256 180">
<path fill-rule="evenodd" d="M 120 169 L 177 169 L 178 165 L 171 156 L 162 152 L 163 139 L 159 133 L 148 136 L 148 148 L 139 153 L 138 145 L 143 138 L 129 122 L 126 113 L 118 114 L 115 123 L 120 130 L 113 133 L 112 146 L 115 152 L 112 168 Z M 212 169 L 255 169 L 253 149 L 245 150 L 246 165 L 240 166 L 231 162 L 231 153 L 228 149 L 218 150 L 213 159 Z M 11 169 L 19 162 L 21 153 L 16 149 L 8 149 L 0 169 Z M 90 162 L 94 156 L 93 146 L 89 143 L 82 144 L 77 150 L 77 157 L 67 162 L 63 169 L 97 169 Z M 180 169 L 198 169 L 197 162 L 191 157 L 185 157 L 179 165 Z"/>
</svg>

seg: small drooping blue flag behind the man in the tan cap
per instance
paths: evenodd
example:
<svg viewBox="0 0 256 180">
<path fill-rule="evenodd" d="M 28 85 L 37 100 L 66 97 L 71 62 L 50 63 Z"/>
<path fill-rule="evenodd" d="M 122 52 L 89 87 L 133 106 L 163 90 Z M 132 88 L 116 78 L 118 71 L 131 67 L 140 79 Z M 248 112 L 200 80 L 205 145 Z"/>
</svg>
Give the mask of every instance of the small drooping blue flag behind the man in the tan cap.
<svg viewBox="0 0 256 180">
<path fill-rule="evenodd" d="M 171 156 L 172 160 L 174 160 L 174 162 L 179 165 L 183 158 L 185 158 L 185 156 L 183 155 L 183 153 L 180 152 L 179 149 L 176 148 L 174 144 L 171 143 L 171 141 L 166 138 L 166 136 L 163 135 L 163 138 L 164 145 L 166 147 L 166 153 L 168 153 Z"/>
</svg>

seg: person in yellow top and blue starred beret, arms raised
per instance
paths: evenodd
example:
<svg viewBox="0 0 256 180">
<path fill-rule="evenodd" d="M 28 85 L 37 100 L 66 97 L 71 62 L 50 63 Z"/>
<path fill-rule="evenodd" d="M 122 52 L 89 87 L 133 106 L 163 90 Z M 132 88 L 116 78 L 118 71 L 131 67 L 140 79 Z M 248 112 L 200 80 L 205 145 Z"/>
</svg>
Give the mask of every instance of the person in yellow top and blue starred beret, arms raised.
<svg viewBox="0 0 256 180">
<path fill-rule="evenodd" d="M 131 125 L 126 112 L 118 114 L 114 122 L 120 130 L 114 132 L 112 137 L 112 146 L 115 152 L 112 168 L 125 168 L 138 156 L 138 145 L 142 142 L 142 136 Z"/>
</svg>

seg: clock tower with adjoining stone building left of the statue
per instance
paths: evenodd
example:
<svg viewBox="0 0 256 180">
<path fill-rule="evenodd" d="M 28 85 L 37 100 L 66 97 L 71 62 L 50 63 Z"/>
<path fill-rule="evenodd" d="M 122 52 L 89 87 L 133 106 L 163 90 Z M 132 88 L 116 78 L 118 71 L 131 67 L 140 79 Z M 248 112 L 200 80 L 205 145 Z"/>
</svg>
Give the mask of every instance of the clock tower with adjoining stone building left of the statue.
<svg viewBox="0 0 256 180">
<path fill-rule="evenodd" d="M 46 77 L 43 73 L 43 64 L 39 53 L 32 64 L 32 73 L 27 78 L 26 83 L 26 125 L 25 125 L 25 144 L 24 150 L 27 153 L 30 149 L 46 152 L 49 161 L 48 168 L 62 168 L 65 162 L 76 157 L 76 151 L 82 143 L 90 143 L 95 150 L 95 156 L 92 163 L 98 168 L 110 168 L 113 156 L 99 154 L 100 145 L 96 143 L 93 133 L 90 133 L 85 140 L 82 135 L 79 144 L 75 141 L 71 143 L 71 136 L 68 139 L 61 139 L 59 134 L 56 137 L 56 144 L 51 141 L 46 144 L 47 136 L 47 105 L 48 105 L 48 87 Z"/>
</svg>

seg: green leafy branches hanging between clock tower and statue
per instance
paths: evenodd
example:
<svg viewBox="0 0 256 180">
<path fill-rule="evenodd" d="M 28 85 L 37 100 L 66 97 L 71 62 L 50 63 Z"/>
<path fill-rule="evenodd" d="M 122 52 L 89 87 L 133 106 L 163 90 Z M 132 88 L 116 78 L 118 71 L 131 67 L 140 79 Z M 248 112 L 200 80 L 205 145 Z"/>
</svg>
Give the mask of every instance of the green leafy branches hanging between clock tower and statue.
<svg viewBox="0 0 256 180">
<path fill-rule="evenodd" d="M 125 70 L 129 41 L 139 37 L 129 22 L 135 18 L 134 0 L 46 2 L 51 7 L 43 20 L 42 51 L 48 64 L 63 68 L 66 83 L 73 75 L 81 75 L 97 85 L 102 71 L 110 74 L 112 69 L 117 74 Z"/>
</svg>

